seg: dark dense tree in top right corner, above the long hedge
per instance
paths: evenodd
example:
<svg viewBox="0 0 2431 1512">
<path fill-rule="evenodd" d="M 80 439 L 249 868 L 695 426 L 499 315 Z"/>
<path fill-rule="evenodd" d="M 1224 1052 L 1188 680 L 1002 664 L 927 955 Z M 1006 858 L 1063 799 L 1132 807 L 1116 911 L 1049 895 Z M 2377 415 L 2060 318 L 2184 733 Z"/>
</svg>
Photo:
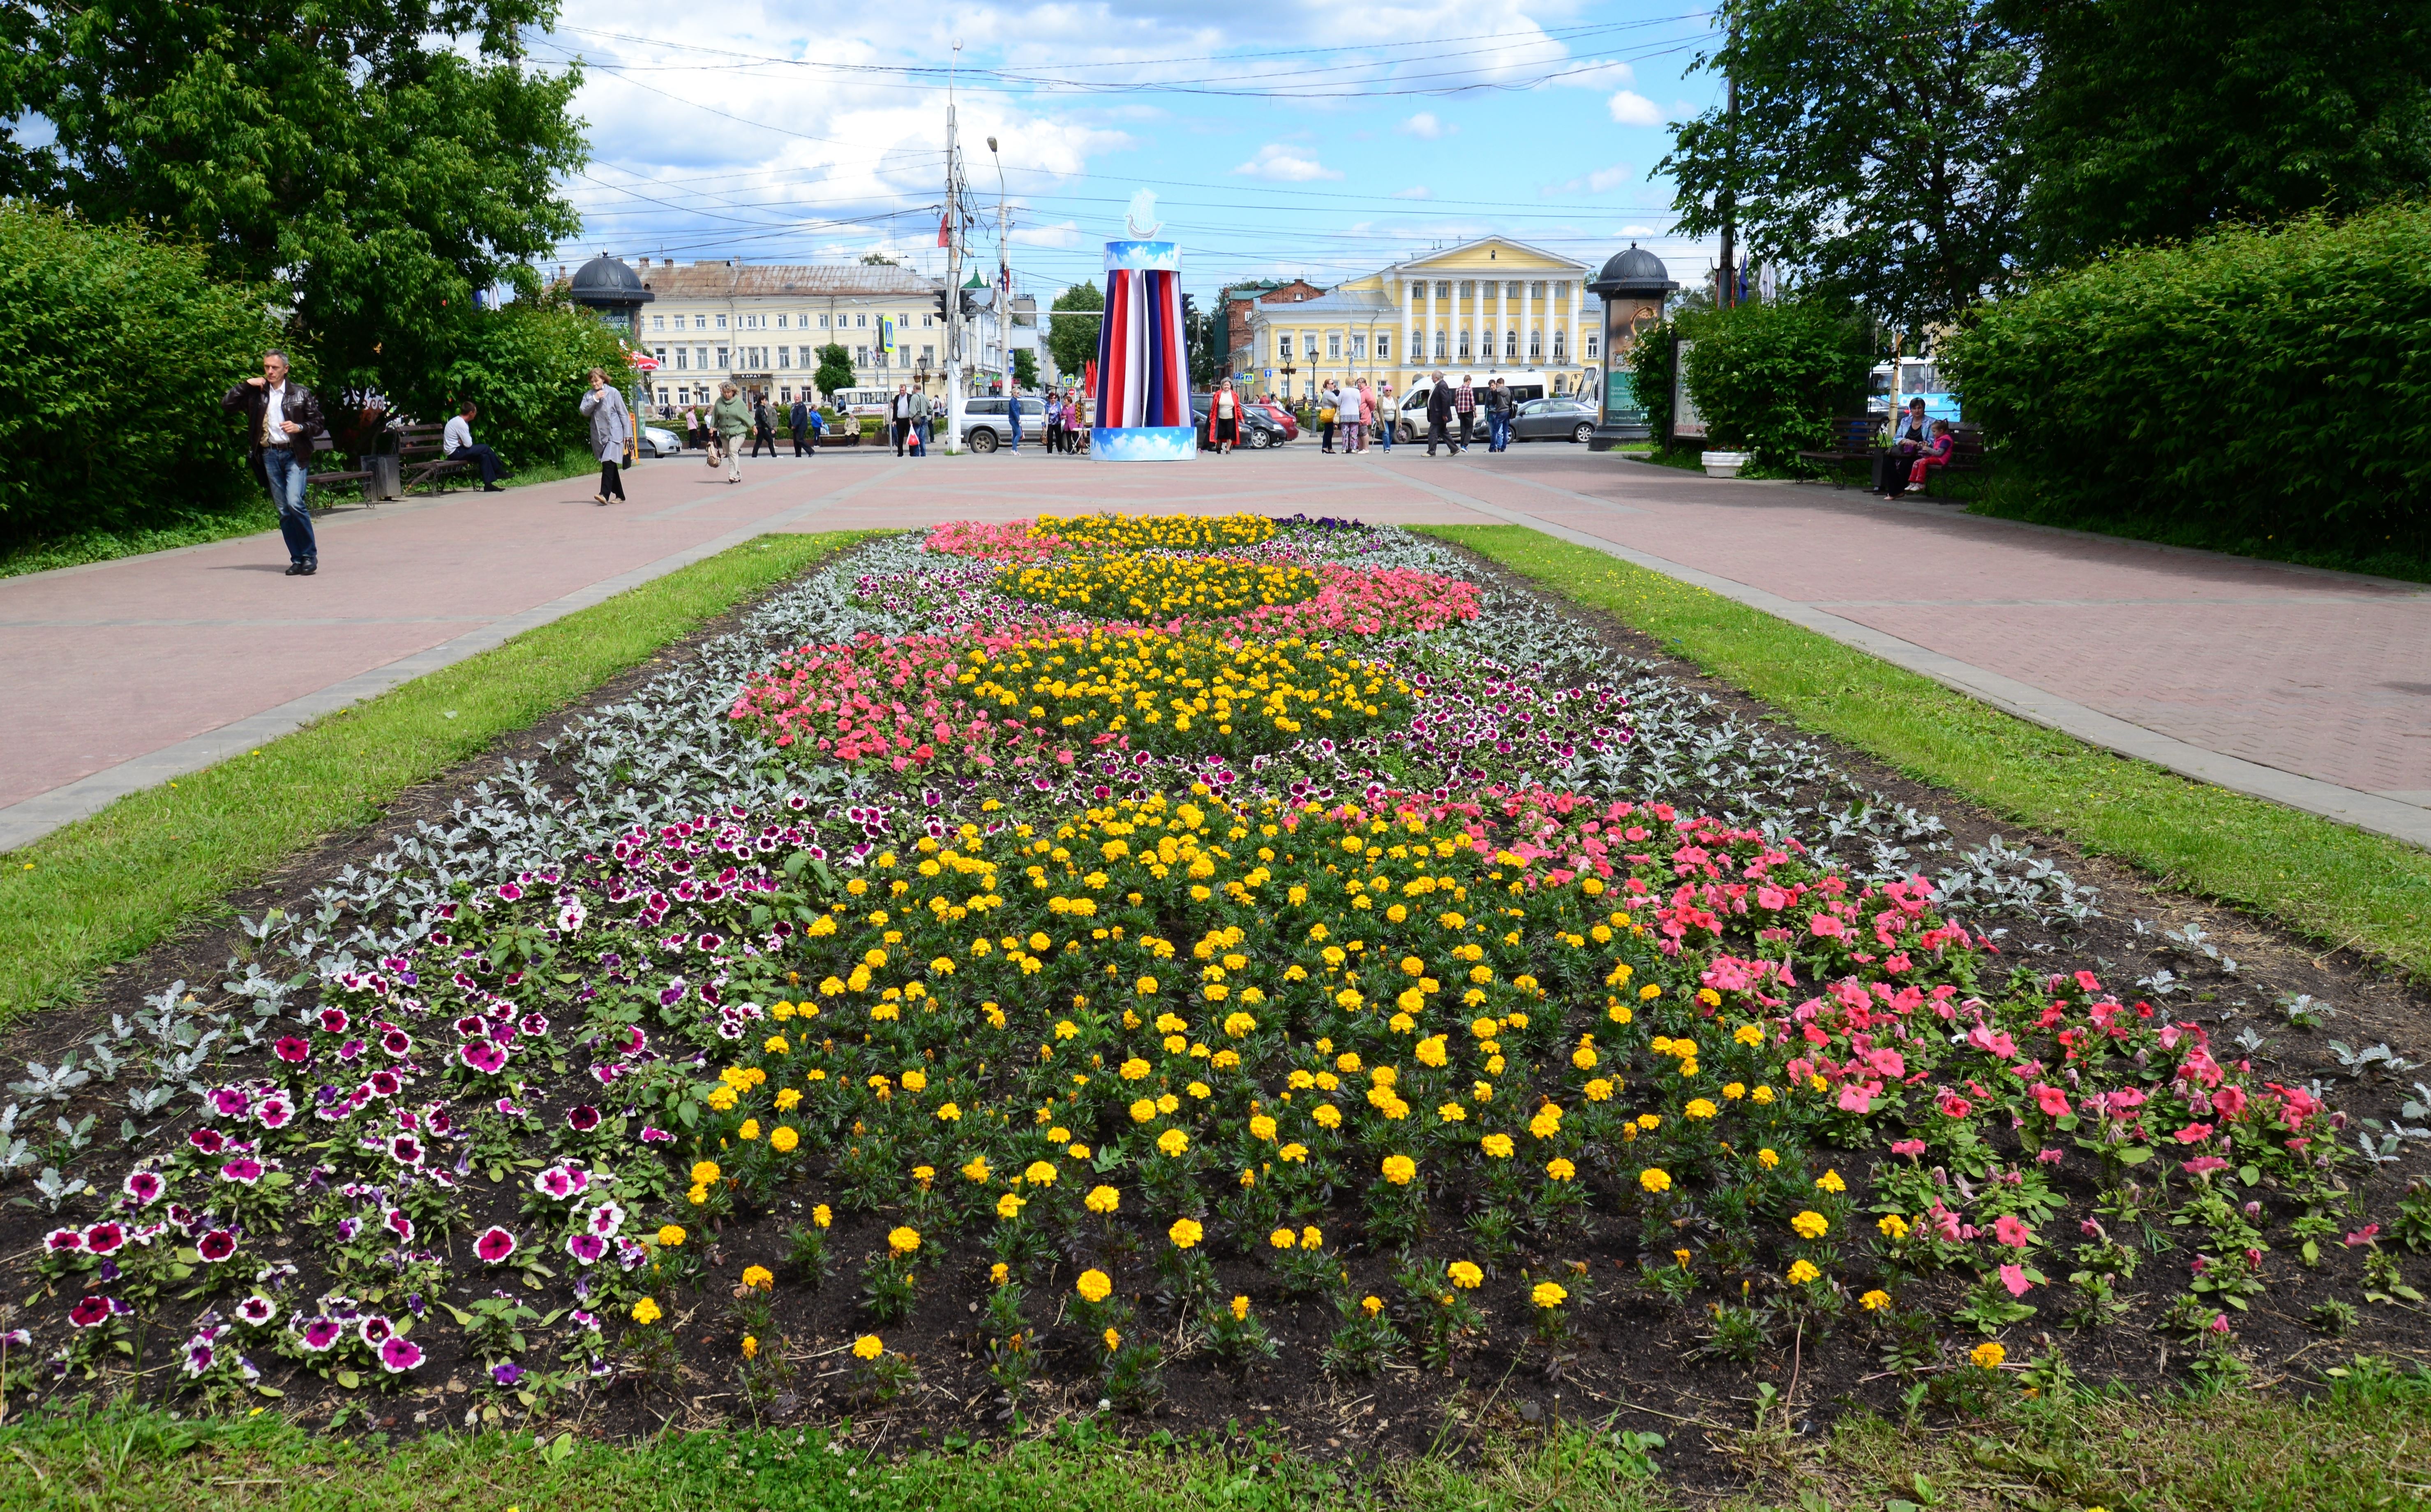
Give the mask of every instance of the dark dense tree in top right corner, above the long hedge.
<svg viewBox="0 0 2431 1512">
<path fill-rule="evenodd" d="M 2431 190 L 2431 0 L 2018 2 L 2035 258 Z"/>
</svg>

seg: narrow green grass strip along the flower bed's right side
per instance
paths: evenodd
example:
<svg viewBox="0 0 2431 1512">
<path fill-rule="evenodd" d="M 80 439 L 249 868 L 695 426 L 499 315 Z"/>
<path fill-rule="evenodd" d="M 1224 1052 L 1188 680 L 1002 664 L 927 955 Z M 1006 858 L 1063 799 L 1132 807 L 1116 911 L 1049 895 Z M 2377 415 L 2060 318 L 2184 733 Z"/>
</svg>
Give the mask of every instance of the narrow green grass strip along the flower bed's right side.
<svg viewBox="0 0 2431 1512">
<path fill-rule="evenodd" d="M 1789 715 L 2003 819 L 2431 980 L 2431 853 L 2088 746 L 1707 588 L 1524 525 L 1420 525 L 1602 610 Z"/>
</svg>

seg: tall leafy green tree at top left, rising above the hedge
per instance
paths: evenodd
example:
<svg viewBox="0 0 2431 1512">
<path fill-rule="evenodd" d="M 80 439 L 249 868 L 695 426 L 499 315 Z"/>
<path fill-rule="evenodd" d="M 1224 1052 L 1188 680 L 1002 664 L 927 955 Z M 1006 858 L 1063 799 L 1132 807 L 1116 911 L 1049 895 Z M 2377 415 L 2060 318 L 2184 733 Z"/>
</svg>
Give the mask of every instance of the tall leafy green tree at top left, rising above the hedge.
<svg viewBox="0 0 2431 1512">
<path fill-rule="evenodd" d="M 17 10 L 17 7 L 12 7 Z M 134 221 L 284 284 L 323 387 L 411 391 L 464 340 L 474 289 L 537 294 L 530 260 L 581 229 L 579 70 L 525 66 L 549 0 L 95 0 L 17 10 L 0 70 L 46 153 L 27 192 Z M 335 418 L 335 416 L 333 416 Z"/>
</svg>

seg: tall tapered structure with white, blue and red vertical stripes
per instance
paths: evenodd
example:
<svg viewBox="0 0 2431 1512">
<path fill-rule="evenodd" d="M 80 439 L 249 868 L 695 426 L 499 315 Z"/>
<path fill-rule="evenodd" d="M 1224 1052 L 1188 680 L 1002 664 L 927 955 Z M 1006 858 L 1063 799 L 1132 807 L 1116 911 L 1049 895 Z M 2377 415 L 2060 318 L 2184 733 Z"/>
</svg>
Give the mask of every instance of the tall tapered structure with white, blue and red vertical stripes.
<svg viewBox="0 0 2431 1512">
<path fill-rule="evenodd" d="M 1130 197 L 1130 238 L 1106 243 L 1106 316 L 1096 331 L 1099 462 L 1189 462 L 1191 365 L 1181 333 L 1181 248 L 1155 241 L 1155 194 Z"/>
</svg>

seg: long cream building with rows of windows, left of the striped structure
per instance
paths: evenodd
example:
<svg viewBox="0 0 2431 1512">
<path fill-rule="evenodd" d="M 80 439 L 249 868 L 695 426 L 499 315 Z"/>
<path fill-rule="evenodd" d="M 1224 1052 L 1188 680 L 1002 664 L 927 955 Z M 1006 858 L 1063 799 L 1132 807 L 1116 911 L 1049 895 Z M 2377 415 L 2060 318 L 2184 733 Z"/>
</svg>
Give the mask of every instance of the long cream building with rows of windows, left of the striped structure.
<svg viewBox="0 0 2431 1512">
<path fill-rule="evenodd" d="M 661 406 L 705 404 L 727 382 L 793 404 L 814 389 L 827 345 L 851 355 L 853 387 L 946 391 L 941 280 L 875 263 L 802 267 L 734 258 L 639 258 L 634 270 L 652 294 L 634 345 L 659 360 L 649 399 Z"/>
</svg>

